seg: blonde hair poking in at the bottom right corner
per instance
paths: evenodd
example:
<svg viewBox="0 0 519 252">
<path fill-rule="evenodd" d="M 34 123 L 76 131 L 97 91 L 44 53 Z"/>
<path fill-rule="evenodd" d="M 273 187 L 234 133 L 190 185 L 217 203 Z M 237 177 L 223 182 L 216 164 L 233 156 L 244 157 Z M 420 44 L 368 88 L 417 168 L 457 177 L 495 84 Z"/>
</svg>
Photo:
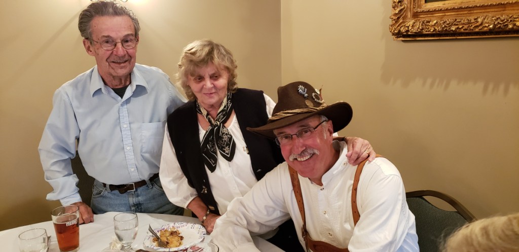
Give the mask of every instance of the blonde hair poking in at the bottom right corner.
<svg viewBox="0 0 519 252">
<path fill-rule="evenodd" d="M 519 251 L 519 213 L 476 220 L 450 235 L 443 252 Z"/>
</svg>

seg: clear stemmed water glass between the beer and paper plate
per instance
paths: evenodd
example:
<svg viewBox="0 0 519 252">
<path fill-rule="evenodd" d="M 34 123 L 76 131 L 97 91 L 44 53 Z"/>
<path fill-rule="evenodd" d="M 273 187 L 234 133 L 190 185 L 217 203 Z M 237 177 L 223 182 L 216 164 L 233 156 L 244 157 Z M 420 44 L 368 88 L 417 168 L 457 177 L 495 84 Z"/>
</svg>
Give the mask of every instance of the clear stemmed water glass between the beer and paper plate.
<svg viewBox="0 0 519 252">
<path fill-rule="evenodd" d="M 114 216 L 115 235 L 126 251 L 133 251 L 131 244 L 137 236 L 139 219 L 137 214 L 131 212 L 120 213 Z"/>
</svg>

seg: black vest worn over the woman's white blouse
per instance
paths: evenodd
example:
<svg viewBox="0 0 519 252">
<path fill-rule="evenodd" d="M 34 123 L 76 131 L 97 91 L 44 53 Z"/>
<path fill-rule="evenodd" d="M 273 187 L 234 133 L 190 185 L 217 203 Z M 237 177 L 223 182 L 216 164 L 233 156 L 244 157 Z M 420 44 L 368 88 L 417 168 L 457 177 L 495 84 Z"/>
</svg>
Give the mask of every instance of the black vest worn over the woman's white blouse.
<svg viewBox="0 0 519 252">
<path fill-rule="evenodd" d="M 254 175 L 257 180 L 260 180 L 284 161 L 280 149 L 272 139 L 247 130 L 247 127 L 260 127 L 267 123 L 268 115 L 263 91 L 239 88 L 232 99 Z M 168 116 L 168 131 L 176 158 L 189 185 L 196 189 L 198 196 L 209 207 L 211 213 L 220 215 L 209 185 L 206 166 L 202 161 L 196 101 L 188 101 Z"/>
</svg>

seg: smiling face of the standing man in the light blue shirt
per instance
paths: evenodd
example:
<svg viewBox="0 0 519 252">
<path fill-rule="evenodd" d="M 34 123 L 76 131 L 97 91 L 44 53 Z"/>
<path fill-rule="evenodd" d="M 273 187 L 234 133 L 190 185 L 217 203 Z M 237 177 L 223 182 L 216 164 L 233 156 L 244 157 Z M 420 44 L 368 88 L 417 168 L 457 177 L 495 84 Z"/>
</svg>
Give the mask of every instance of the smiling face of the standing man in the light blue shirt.
<svg viewBox="0 0 519 252">
<path fill-rule="evenodd" d="M 128 16 L 95 17 L 90 22 L 91 39 L 83 40 L 83 45 L 90 56 L 95 57 L 98 71 L 103 81 L 110 87 L 122 87 L 130 84 L 130 73 L 135 67 L 137 45 L 125 49 L 117 43 L 113 50 L 105 50 L 99 44 L 106 39 L 120 42 L 126 38 L 135 38 L 133 22 Z"/>
</svg>

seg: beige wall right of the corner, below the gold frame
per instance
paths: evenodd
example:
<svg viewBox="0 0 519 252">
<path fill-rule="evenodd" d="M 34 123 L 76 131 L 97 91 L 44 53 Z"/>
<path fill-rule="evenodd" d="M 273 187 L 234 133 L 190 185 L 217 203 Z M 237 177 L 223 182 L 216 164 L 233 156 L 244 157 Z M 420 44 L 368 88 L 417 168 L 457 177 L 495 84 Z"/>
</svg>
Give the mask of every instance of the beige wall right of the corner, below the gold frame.
<svg viewBox="0 0 519 252">
<path fill-rule="evenodd" d="M 406 190 L 519 211 L 519 38 L 393 41 L 390 0 L 281 2 L 282 82 L 323 85 Z M 270 89 L 274 91 L 274 88 Z"/>
</svg>

